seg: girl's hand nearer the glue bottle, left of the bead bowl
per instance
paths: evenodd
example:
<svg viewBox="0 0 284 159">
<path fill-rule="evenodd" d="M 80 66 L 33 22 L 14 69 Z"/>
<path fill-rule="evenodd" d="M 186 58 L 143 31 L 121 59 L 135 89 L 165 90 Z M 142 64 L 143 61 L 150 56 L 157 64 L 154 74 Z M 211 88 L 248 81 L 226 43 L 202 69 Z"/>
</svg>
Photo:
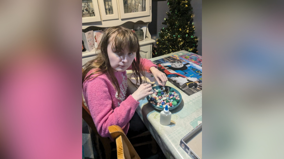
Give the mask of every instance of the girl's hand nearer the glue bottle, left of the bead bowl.
<svg viewBox="0 0 284 159">
<path fill-rule="evenodd" d="M 132 94 L 132 97 L 139 101 L 144 99 L 146 96 L 153 94 L 154 92 L 149 92 L 152 90 L 152 86 L 147 83 L 143 83 L 139 86 L 139 88 Z"/>
</svg>

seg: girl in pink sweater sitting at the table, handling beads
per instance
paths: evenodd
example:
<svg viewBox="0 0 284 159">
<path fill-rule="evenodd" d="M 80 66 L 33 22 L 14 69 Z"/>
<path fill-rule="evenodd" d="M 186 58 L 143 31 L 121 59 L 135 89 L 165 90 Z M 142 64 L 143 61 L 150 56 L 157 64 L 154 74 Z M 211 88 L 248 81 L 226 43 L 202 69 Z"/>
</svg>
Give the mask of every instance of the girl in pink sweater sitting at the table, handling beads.
<svg viewBox="0 0 284 159">
<path fill-rule="evenodd" d="M 83 94 L 98 133 L 111 138 L 108 127 L 118 125 L 127 134 L 138 101 L 153 94 L 150 84 L 142 84 L 141 74 L 145 77 L 144 71 L 152 73 L 159 85 L 163 86 L 168 79 L 150 60 L 141 59 L 138 38 L 129 29 L 120 26 L 106 29 L 99 48 L 101 53 L 87 63 L 82 73 Z M 136 81 L 141 84 L 128 97 L 126 70 L 132 70 Z M 139 126 L 141 124 L 134 123 L 130 127 L 136 129 Z M 145 127 L 143 123 L 142 127 Z"/>
</svg>

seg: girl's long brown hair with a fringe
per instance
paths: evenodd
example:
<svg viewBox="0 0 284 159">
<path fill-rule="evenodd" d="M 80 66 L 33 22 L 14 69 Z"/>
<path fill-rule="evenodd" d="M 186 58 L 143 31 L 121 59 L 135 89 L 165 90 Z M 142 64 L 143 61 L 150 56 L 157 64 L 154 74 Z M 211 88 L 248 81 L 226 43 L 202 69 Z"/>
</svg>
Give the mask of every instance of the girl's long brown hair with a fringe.
<svg viewBox="0 0 284 159">
<path fill-rule="evenodd" d="M 138 83 L 138 76 L 140 79 L 140 84 L 142 84 L 141 74 L 144 76 L 144 82 L 146 81 L 145 72 L 143 66 L 140 63 L 140 45 L 138 38 L 134 32 L 121 26 L 110 27 L 104 30 L 102 40 L 98 45 L 100 53 L 97 58 L 86 63 L 86 66 L 82 72 L 82 85 L 86 80 L 95 78 L 101 74 L 106 74 L 111 80 L 111 83 L 115 87 L 118 94 L 120 94 L 120 88 L 118 81 L 114 75 L 114 71 L 111 68 L 109 62 L 109 56 L 107 54 L 107 46 L 113 41 L 114 48 L 117 52 L 124 50 L 128 47 L 129 52 L 136 52 L 136 60 L 132 62 L 132 71 L 136 79 L 136 84 Z M 93 71 L 93 72 L 90 72 Z M 89 73 L 90 72 L 90 73 Z M 91 77 L 92 75 L 96 75 Z"/>
</svg>

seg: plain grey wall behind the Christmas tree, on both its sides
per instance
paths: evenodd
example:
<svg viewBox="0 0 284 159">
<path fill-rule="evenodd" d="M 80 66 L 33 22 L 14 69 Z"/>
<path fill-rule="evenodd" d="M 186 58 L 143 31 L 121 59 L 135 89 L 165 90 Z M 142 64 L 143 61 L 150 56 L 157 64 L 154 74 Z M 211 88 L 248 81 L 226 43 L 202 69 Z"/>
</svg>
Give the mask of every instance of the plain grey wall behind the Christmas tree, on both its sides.
<svg viewBox="0 0 284 159">
<path fill-rule="evenodd" d="M 166 0 L 152 0 L 152 22 L 148 28 L 152 39 L 159 38 L 161 28 L 166 27 L 162 22 L 166 17 L 166 12 L 169 10 Z M 198 37 L 198 54 L 202 56 L 202 0 L 191 0 L 191 6 L 194 11 L 193 22 L 195 26 L 195 36 Z"/>
</svg>

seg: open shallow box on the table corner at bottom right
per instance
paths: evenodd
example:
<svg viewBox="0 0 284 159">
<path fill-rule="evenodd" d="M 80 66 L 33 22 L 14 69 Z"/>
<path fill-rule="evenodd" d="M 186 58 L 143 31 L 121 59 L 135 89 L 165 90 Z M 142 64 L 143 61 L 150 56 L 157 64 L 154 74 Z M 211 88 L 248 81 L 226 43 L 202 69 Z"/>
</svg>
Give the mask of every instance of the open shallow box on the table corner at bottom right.
<svg viewBox="0 0 284 159">
<path fill-rule="evenodd" d="M 180 147 L 193 159 L 202 159 L 202 123 L 180 140 Z"/>
</svg>

